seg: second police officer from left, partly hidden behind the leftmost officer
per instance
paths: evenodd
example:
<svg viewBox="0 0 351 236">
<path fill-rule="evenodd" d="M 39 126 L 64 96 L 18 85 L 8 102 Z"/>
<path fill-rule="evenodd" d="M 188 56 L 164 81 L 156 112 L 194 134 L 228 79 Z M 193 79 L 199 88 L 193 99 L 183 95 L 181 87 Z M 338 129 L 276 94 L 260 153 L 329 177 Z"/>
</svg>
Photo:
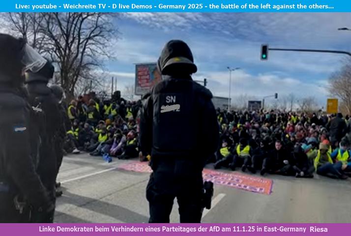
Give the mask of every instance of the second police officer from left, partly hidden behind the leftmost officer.
<svg viewBox="0 0 351 236">
<path fill-rule="evenodd" d="M 63 119 L 59 112 L 59 104 L 52 90 L 47 86 L 49 80 L 53 78 L 54 66 L 47 60 L 39 70 L 28 70 L 26 72 L 26 89 L 29 93 L 29 103 L 31 106 L 42 110 L 45 114 L 45 131 L 40 133 L 39 164 L 37 173 L 44 186 L 49 192 L 52 202 L 56 202 L 56 176 L 57 176 L 57 154 L 55 147 L 59 139 L 59 129 L 63 124 Z M 33 222 L 52 223 L 55 209 L 49 214 L 43 215 L 33 212 Z"/>
</svg>

